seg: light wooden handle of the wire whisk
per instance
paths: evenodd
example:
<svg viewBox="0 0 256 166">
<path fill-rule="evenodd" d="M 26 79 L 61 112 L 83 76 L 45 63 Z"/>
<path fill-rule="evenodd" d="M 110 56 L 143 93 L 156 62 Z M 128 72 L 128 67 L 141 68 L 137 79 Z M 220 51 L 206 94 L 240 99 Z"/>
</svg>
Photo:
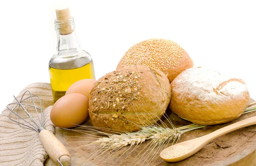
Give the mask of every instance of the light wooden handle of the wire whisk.
<svg viewBox="0 0 256 166">
<path fill-rule="evenodd" d="M 51 132 L 47 129 L 39 132 L 39 138 L 44 146 L 45 151 L 55 162 L 56 166 L 60 166 L 58 164 L 57 159 L 59 159 L 63 166 L 71 166 L 71 158 L 70 154 L 67 151 L 66 147 L 55 137 Z"/>
</svg>

